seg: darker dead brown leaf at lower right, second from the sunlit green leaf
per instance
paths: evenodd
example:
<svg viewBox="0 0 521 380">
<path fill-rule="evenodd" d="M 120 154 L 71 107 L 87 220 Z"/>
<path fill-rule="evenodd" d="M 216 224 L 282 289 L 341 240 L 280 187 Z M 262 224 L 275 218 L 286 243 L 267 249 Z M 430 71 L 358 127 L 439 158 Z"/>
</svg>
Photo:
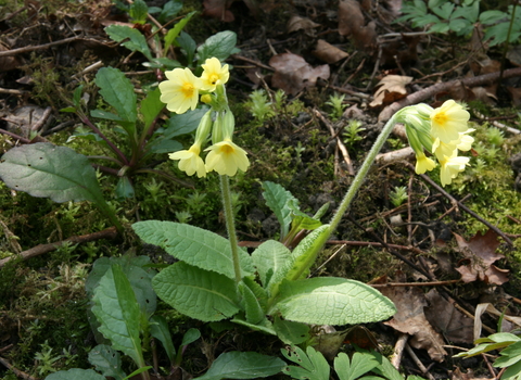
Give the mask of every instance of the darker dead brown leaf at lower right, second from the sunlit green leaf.
<svg viewBox="0 0 521 380">
<path fill-rule="evenodd" d="M 468 344 L 474 342 L 474 321 L 471 318 L 441 296 L 436 289 L 431 289 L 425 297 L 429 301 L 429 307 L 424 308 L 425 317 L 437 331 L 443 332 L 446 340 Z"/>
</svg>

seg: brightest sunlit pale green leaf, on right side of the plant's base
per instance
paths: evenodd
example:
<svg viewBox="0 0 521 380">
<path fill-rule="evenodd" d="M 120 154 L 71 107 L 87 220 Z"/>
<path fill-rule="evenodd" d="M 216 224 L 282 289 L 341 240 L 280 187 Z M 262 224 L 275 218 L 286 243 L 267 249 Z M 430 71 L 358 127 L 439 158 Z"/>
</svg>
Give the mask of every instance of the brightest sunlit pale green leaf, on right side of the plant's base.
<svg viewBox="0 0 521 380">
<path fill-rule="evenodd" d="M 391 300 L 378 290 L 335 277 L 284 281 L 275 307 L 285 319 L 317 325 L 376 322 L 396 313 Z"/>
</svg>

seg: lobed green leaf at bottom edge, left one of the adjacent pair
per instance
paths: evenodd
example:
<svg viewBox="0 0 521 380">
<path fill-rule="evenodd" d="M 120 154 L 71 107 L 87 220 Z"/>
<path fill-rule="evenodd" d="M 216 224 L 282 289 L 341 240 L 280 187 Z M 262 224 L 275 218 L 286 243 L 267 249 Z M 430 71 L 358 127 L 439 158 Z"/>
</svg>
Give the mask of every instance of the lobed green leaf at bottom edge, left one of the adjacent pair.
<svg viewBox="0 0 521 380">
<path fill-rule="evenodd" d="M 283 372 L 293 379 L 329 380 L 330 367 L 328 360 L 321 353 L 308 346 L 306 352 L 297 346 L 281 350 L 282 355 L 289 360 L 296 363 L 300 367 L 288 366 Z"/>
</svg>

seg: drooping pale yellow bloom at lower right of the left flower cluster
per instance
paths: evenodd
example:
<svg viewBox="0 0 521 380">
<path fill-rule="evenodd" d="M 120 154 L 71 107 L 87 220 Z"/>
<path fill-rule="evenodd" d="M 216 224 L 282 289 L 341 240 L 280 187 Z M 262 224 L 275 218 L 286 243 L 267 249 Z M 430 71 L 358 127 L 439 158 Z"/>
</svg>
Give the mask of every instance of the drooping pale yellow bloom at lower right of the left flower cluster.
<svg viewBox="0 0 521 380">
<path fill-rule="evenodd" d="M 234 176 L 237 169 L 246 172 L 250 166 L 250 161 L 246 157 L 246 152 L 231 142 L 230 139 L 225 139 L 205 149 L 209 151 L 206 156 L 206 172 L 215 170 L 221 176 Z"/>
</svg>

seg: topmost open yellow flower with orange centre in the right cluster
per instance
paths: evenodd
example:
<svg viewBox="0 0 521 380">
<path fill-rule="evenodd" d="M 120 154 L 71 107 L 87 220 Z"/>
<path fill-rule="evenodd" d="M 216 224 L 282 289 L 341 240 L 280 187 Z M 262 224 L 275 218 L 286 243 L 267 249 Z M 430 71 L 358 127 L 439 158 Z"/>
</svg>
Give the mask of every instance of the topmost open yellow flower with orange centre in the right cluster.
<svg viewBox="0 0 521 380">
<path fill-rule="evenodd" d="M 459 139 L 469 129 L 470 114 L 454 100 L 447 100 L 431 113 L 431 134 L 445 143 Z"/>
</svg>

